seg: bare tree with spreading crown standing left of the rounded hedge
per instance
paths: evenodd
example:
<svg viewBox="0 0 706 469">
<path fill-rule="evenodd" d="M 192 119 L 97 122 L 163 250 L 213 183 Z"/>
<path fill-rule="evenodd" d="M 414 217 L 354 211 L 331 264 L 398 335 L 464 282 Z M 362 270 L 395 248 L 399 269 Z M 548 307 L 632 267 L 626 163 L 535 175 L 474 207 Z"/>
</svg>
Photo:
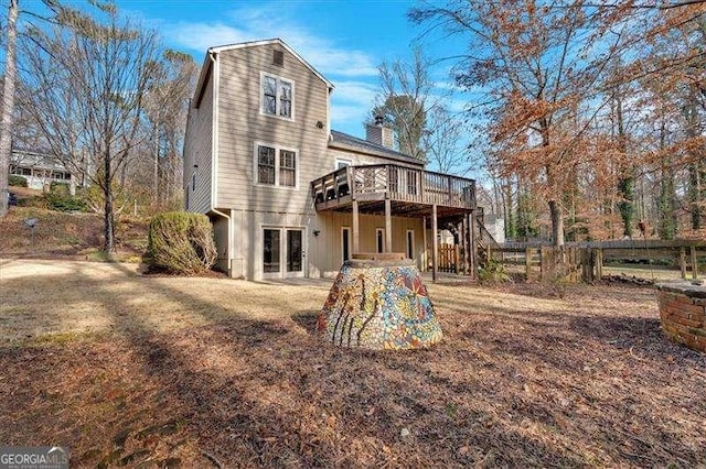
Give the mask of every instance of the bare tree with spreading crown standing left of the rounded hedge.
<svg viewBox="0 0 706 469">
<path fill-rule="evenodd" d="M 28 47 L 24 103 L 54 155 L 72 171 L 85 171 L 100 187 L 106 253 L 115 251 L 115 190 L 141 143 L 143 97 L 154 77 L 156 34 L 120 21 L 109 6 L 106 24 L 77 22 L 44 33 Z"/>
</svg>

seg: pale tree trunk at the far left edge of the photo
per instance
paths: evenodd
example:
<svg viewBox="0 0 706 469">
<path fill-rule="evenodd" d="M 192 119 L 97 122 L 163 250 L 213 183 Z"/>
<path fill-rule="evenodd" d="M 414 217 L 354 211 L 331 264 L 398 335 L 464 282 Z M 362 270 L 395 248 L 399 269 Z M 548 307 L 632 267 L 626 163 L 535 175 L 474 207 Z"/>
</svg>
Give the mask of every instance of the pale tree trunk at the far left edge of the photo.
<svg viewBox="0 0 706 469">
<path fill-rule="evenodd" d="M 4 84 L 2 90 L 2 119 L 0 120 L 0 218 L 8 212 L 8 176 L 12 153 L 12 112 L 14 110 L 14 83 L 17 79 L 15 48 L 18 37 L 19 0 L 10 0 L 8 10 Z"/>
</svg>

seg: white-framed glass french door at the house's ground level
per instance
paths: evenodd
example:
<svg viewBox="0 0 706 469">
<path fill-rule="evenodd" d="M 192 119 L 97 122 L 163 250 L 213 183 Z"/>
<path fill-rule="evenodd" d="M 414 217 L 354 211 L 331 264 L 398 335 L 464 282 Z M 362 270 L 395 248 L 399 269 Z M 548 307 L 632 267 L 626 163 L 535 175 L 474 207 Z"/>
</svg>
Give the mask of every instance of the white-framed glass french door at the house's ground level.
<svg viewBox="0 0 706 469">
<path fill-rule="evenodd" d="M 263 276 L 304 276 L 304 229 L 263 228 Z"/>
</svg>

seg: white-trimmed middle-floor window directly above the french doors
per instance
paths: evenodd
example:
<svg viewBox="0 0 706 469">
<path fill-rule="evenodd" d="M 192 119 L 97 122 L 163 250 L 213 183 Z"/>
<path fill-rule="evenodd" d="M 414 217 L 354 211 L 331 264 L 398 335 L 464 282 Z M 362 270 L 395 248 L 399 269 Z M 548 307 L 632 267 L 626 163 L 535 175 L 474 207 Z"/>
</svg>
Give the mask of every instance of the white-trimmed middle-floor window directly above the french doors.
<svg viewBox="0 0 706 469">
<path fill-rule="evenodd" d="M 298 187 L 298 152 L 267 143 L 255 144 L 255 184 Z"/>
</svg>

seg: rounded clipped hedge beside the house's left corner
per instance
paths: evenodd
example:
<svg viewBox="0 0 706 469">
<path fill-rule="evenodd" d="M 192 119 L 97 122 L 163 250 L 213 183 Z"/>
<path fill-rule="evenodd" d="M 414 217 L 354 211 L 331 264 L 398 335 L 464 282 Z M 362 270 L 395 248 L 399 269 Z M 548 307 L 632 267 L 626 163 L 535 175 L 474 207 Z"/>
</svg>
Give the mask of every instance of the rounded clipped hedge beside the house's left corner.
<svg viewBox="0 0 706 469">
<path fill-rule="evenodd" d="M 151 270 L 180 275 L 208 271 L 217 255 L 208 217 L 183 211 L 152 217 L 147 254 Z"/>
</svg>

